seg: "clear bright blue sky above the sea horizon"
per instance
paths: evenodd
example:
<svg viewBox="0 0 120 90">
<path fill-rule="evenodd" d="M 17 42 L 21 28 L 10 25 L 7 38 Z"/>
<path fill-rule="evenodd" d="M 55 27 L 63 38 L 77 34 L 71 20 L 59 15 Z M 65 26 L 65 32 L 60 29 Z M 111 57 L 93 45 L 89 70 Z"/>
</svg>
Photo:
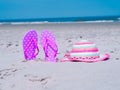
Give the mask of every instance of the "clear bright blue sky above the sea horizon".
<svg viewBox="0 0 120 90">
<path fill-rule="evenodd" d="M 0 0 L 0 19 L 120 15 L 120 0 Z"/>
</svg>

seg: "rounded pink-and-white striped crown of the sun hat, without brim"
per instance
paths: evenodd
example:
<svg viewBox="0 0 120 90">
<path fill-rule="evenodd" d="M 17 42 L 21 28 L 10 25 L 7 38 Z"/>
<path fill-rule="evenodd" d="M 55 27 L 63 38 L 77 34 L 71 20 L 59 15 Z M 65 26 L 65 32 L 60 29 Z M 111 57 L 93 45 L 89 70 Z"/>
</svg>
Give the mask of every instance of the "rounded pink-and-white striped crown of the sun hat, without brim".
<svg viewBox="0 0 120 90">
<path fill-rule="evenodd" d="M 70 56 L 77 58 L 98 58 L 99 51 L 93 42 L 81 40 L 73 45 Z"/>
</svg>

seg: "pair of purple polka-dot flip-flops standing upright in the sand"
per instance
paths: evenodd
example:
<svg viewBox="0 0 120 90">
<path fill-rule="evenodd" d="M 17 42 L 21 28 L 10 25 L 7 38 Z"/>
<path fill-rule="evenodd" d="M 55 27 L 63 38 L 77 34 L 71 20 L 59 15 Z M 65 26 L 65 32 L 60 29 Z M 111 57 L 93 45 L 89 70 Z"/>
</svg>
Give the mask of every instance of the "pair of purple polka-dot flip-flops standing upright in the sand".
<svg viewBox="0 0 120 90">
<path fill-rule="evenodd" d="M 40 43 L 45 53 L 47 62 L 56 62 L 58 47 L 54 34 L 50 31 L 43 31 L 40 36 Z M 24 57 L 26 60 L 34 60 L 39 54 L 38 35 L 35 30 L 26 33 L 23 39 Z"/>
</svg>

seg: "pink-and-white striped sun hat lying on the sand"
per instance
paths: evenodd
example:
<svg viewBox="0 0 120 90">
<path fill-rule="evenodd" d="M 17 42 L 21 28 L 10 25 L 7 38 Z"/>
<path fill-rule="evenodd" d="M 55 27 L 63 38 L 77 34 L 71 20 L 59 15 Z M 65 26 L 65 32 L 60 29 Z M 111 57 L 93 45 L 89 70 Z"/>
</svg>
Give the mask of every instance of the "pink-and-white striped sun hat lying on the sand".
<svg viewBox="0 0 120 90">
<path fill-rule="evenodd" d="M 65 54 L 61 62 L 98 62 L 109 59 L 108 54 L 99 54 L 99 50 L 93 42 L 82 40 L 73 45 L 72 51 Z"/>
</svg>

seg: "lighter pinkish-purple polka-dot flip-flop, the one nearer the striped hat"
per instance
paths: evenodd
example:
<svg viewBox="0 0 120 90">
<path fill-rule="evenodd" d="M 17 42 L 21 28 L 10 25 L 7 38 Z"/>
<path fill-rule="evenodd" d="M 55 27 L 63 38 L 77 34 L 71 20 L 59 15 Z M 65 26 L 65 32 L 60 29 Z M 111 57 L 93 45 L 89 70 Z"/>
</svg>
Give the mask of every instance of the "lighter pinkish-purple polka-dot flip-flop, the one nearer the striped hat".
<svg viewBox="0 0 120 90">
<path fill-rule="evenodd" d="M 45 53 L 47 62 L 56 62 L 58 47 L 56 45 L 55 36 L 50 31 L 43 31 L 40 35 L 40 42 Z"/>
</svg>

